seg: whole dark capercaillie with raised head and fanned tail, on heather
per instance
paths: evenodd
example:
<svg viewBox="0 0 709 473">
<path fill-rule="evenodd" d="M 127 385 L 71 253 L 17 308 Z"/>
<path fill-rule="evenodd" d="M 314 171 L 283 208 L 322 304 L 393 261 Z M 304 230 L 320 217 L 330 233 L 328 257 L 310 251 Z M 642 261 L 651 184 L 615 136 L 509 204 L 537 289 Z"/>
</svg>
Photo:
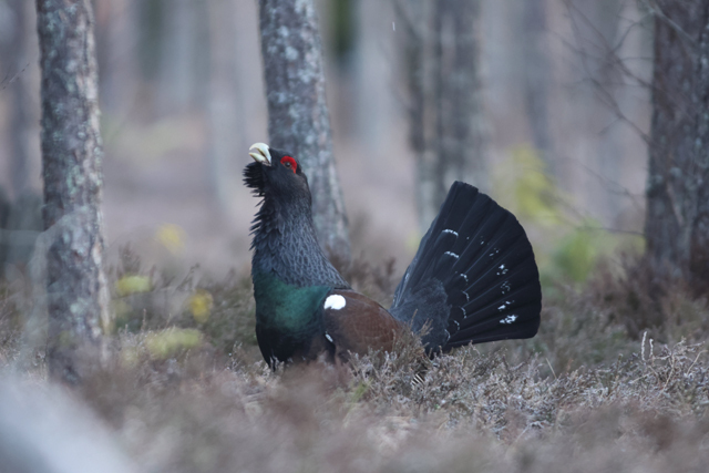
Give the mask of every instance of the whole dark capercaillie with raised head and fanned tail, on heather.
<svg viewBox="0 0 709 473">
<path fill-rule="evenodd" d="M 256 336 L 271 367 L 391 350 L 397 333 L 424 327 L 430 354 L 536 335 L 532 245 L 514 215 L 475 187 L 451 186 L 386 310 L 353 291 L 320 249 L 298 160 L 264 143 L 249 151 L 244 182 L 264 198 L 251 227 Z"/>
</svg>

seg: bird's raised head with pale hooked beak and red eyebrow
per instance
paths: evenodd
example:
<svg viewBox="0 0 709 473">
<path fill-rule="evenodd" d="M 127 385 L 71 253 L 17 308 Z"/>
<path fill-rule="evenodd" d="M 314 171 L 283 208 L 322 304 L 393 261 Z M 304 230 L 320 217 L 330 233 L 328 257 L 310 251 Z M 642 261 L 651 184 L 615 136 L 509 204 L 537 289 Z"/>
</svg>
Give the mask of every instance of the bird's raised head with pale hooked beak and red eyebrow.
<svg viewBox="0 0 709 473">
<path fill-rule="evenodd" d="M 291 154 L 265 143 L 251 145 L 254 163 L 244 169 L 244 183 L 259 197 L 310 200 L 310 188 L 300 162 Z"/>
</svg>

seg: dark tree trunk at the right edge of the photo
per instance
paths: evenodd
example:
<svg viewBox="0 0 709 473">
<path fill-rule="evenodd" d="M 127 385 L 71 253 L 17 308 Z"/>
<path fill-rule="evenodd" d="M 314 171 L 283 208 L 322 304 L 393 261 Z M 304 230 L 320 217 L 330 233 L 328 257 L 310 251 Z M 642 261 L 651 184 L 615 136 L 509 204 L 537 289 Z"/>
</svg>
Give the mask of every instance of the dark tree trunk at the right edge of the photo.
<svg viewBox="0 0 709 473">
<path fill-rule="evenodd" d="M 647 254 L 709 287 L 709 3 L 657 2 Z"/>
</svg>

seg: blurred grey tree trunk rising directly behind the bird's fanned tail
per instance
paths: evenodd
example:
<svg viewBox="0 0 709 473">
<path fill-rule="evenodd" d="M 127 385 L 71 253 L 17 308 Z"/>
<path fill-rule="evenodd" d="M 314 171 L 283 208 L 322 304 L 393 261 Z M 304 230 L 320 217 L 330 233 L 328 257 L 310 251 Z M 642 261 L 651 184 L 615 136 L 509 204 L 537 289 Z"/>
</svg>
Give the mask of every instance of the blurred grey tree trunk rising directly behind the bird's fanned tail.
<svg viewBox="0 0 709 473">
<path fill-rule="evenodd" d="M 485 140 L 479 78 L 479 0 L 397 3 L 407 24 L 409 142 L 417 157 L 423 232 L 454 181 L 484 188 Z"/>
</svg>

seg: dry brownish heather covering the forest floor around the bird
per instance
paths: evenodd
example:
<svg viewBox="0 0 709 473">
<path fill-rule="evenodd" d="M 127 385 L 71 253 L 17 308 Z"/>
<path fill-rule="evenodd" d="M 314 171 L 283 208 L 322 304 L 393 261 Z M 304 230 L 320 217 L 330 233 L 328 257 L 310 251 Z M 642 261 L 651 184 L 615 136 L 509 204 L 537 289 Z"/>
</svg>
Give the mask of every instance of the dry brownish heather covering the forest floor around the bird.
<svg viewBox="0 0 709 473">
<path fill-rule="evenodd" d="M 366 284 L 390 274 L 358 270 Z M 651 325 L 633 312 L 640 282 L 600 270 L 583 292 L 557 288 L 533 340 L 432 361 L 402 340 L 397 356 L 270 372 L 253 331 L 244 333 L 253 330 L 247 279 L 152 278 L 148 291 L 116 295 L 126 323 L 114 357 L 72 394 L 142 471 L 703 472 L 709 464 L 709 309 L 677 288 L 640 302 L 638 310 L 646 304 L 662 315 Z M 3 294 L 0 360 L 13 366 L 20 317 Z M 195 316 L 195 294 L 209 295 L 208 318 Z M 35 351 L 40 361 L 23 377 L 44 385 Z"/>
</svg>

